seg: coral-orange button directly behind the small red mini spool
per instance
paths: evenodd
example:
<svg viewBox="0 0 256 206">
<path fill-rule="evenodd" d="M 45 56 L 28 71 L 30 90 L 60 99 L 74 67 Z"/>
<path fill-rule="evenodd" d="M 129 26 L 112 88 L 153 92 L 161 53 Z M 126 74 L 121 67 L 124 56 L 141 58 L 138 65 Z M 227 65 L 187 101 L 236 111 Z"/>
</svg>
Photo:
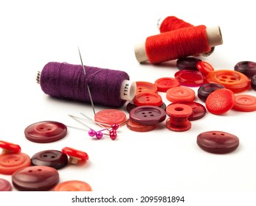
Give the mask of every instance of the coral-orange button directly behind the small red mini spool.
<svg viewBox="0 0 256 206">
<path fill-rule="evenodd" d="M 193 102 L 195 99 L 195 91 L 186 87 L 170 88 L 166 92 L 166 98 L 170 102 Z"/>
</svg>

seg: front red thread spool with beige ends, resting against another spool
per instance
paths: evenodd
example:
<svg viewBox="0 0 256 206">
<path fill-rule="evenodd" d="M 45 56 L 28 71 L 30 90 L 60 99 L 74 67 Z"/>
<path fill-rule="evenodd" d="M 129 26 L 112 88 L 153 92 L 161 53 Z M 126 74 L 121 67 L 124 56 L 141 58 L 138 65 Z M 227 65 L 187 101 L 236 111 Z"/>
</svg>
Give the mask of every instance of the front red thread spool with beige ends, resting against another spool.
<svg viewBox="0 0 256 206">
<path fill-rule="evenodd" d="M 191 55 L 207 53 L 211 47 L 222 44 L 219 26 L 207 28 L 204 25 L 190 26 L 153 35 L 145 43 L 134 47 L 139 63 L 162 63 Z"/>
</svg>

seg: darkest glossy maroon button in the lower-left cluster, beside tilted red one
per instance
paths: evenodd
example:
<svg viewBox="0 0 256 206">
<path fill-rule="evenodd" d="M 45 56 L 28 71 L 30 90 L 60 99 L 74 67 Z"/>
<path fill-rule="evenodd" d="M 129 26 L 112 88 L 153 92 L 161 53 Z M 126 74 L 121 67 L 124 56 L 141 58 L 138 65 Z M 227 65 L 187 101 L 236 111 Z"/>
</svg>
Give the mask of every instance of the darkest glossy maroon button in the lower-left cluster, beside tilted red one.
<svg viewBox="0 0 256 206">
<path fill-rule="evenodd" d="M 68 156 L 58 150 L 44 150 L 31 157 L 32 166 L 49 166 L 63 168 L 69 162 Z"/>
</svg>

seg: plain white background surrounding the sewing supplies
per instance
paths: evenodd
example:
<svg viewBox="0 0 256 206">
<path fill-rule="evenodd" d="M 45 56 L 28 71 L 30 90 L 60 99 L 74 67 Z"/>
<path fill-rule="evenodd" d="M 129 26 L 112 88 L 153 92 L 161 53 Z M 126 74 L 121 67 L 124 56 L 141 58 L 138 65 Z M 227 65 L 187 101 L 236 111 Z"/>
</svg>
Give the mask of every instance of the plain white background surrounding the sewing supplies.
<svg viewBox="0 0 256 206">
<path fill-rule="evenodd" d="M 97 192 L 255 191 L 255 113 L 230 110 L 192 122 L 187 132 L 171 132 L 165 123 L 152 132 L 118 130 L 118 139 L 94 141 L 76 129 L 55 143 L 32 143 L 24 129 L 37 121 L 60 121 L 83 127 L 68 114 L 93 117 L 90 104 L 47 96 L 36 83 L 37 71 L 50 61 L 126 71 L 133 81 L 173 77 L 176 61 L 141 65 L 134 45 L 156 35 L 157 20 L 168 15 L 193 25 L 220 26 L 224 44 L 207 58 L 215 70 L 255 59 L 255 7 L 251 1 L 1 1 L 0 2 L 0 139 L 21 146 L 30 157 L 64 146 L 89 154 L 89 162 L 59 170 L 60 182 L 83 180 Z M 198 88 L 193 88 L 197 93 Z M 255 95 L 254 90 L 246 93 Z M 170 102 L 160 93 L 166 104 Z M 198 98 L 197 102 L 201 102 Z M 96 106 L 96 111 L 105 107 Z M 125 112 L 125 107 L 120 108 Z M 97 127 L 95 126 L 95 129 Z M 221 130 L 237 135 L 235 152 L 201 150 L 199 133 Z M 11 181 L 11 176 L 0 174 Z M 13 188 L 15 191 L 15 188 Z"/>
</svg>

